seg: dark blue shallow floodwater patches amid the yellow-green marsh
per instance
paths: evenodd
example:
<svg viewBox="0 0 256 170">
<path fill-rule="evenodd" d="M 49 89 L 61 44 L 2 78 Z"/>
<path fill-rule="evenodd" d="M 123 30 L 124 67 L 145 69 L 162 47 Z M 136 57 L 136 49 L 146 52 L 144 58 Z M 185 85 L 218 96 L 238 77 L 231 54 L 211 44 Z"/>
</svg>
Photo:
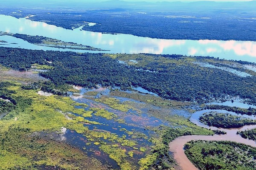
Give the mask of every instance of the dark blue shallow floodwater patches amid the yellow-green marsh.
<svg viewBox="0 0 256 170">
<path fill-rule="evenodd" d="M 98 92 L 98 94 L 94 97 L 98 98 L 101 95 L 110 95 L 110 90 L 108 88 L 102 88 L 101 86 L 97 86 L 97 88 L 91 88 L 91 89 L 87 89 L 87 88 L 82 88 L 79 86 L 73 86 L 73 88 L 75 88 L 76 90 L 79 90 L 79 93 L 71 93 L 69 92 L 69 95 L 71 97 L 71 99 L 73 99 L 76 102 L 79 103 L 85 103 L 88 105 L 88 107 L 83 108 L 81 106 L 77 106 L 76 108 L 83 108 L 84 110 L 89 110 L 90 108 L 102 108 L 105 109 L 109 112 L 115 113 L 118 116 L 118 119 L 124 119 L 125 123 L 121 123 L 121 122 L 117 122 L 115 121 L 115 119 L 106 119 L 103 118 L 101 116 L 95 116 L 94 114 L 92 114 L 92 117 L 84 117 L 84 119 L 90 120 L 90 121 L 96 121 L 96 122 L 100 122 L 100 125 L 90 125 L 90 124 L 84 124 L 84 126 L 88 127 L 89 130 L 95 130 L 95 131 L 102 131 L 102 132 L 108 132 L 108 133 L 115 133 L 116 135 L 118 135 L 119 137 L 122 137 L 123 135 L 126 135 L 126 139 L 129 140 L 134 140 L 137 142 L 137 145 L 135 145 L 134 147 L 145 147 L 147 148 L 147 150 L 150 150 L 150 146 L 151 146 L 151 142 L 148 142 L 148 139 L 150 138 L 151 134 L 153 134 L 154 132 L 151 130 L 148 130 L 147 127 L 148 126 L 153 126 L 153 127 L 157 127 L 160 125 L 166 125 L 168 126 L 168 122 L 164 122 L 161 119 L 158 119 L 154 116 L 148 116 L 147 114 L 145 114 L 146 112 L 141 111 L 142 113 L 137 113 L 137 111 L 129 109 L 127 112 L 122 112 L 116 109 L 113 109 L 111 107 L 109 107 L 108 105 L 104 104 L 104 103 L 100 103 L 100 102 L 96 102 L 92 99 L 86 99 L 84 98 L 84 96 L 87 96 L 86 93 L 87 92 Z M 100 94 L 100 95 L 99 95 Z M 111 96 L 113 97 L 113 96 Z M 121 102 L 125 102 L 125 101 L 130 101 L 130 102 L 138 102 L 135 100 L 131 100 L 128 98 L 121 98 L 118 97 L 118 99 L 120 99 Z M 139 109 L 139 108 L 137 108 Z M 75 116 L 80 116 L 83 117 L 81 115 L 72 113 Z M 124 130 L 125 129 L 125 130 Z M 132 135 L 129 135 L 126 130 L 128 131 L 133 131 L 133 132 L 138 132 L 138 133 L 143 133 L 145 134 L 148 138 L 144 139 L 144 138 L 133 138 Z M 88 156 L 93 156 L 96 159 L 99 159 L 103 164 L 105 162 L 108 162 L 108 165 L 113 166 L 113 169 L 120 169 L 120 167 L 116 164 L 116 162 L 113 159 L 110 159 L 108 154 L 102 152 L 99 149 L 99 145 L 95 145 L 93 144 L 93 142 L 89 141 L 86 136 L 76 133 L 75 131 L 72 130 L 64 130 L 63 134 L 46 134 L 46 135 L 51 135 L 52 138 L 54 139 L 58 139 L 60 141 L 65 141 L 75 147 L 80 148 L 81 150 L 84 150 L 84 152 L 86 152 L 86 154 Z M 100 139 L 103 142 L 107 142 L 108 144 L 111 144 L 110 141 L 105 140 L 105 139 Z M 87 143 L 91 143 L 90 145 L 87 145 Z M 134 156 L 133 158 L 127 158 L 127 159 L 131 159 L 131 161 L 134 162 L 135 166 L 139 166 L 137 164 L 137 162 L 145 157 L 145 153 L 144 152 L 140 152 L 139 150 L 134 150 L 131 147 L 122 147 L 122 149 L 125 149 L 128 151 L 133 151 L 134 152 Z"/>
</svg>

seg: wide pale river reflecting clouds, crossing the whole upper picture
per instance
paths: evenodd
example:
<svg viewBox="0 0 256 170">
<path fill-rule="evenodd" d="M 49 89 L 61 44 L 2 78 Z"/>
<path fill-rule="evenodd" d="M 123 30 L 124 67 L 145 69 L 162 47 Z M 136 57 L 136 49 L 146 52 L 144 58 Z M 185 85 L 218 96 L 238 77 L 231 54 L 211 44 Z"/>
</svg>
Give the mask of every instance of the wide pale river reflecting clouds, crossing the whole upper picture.
<svg viewBox="0 0 256 170">
<path fill-rule="evenodd" d="M 33 19 L 33 17 L 29 18 Z M 86 22 L 86 21 L 85 21 Z M 246 60 L 256 62 L 256 42 L 253 41 L 218 41 L 218 40 L 163 40 L 147 37 L 137 37 L 130 34 L 102 34 L 91 31 L 81 31 L 81 28 L 67 30 L 61 27 L 36 22 L 26 18 L 0 15 L 0 31 L 39 35 L 55 38 L 65 42 L 90 45 L 101 48 L 107 53 L 152 53 L 152 54 L 183 54 L 197 56 L 213 56 L 224 59 Z M 77 52 L 100 52 L 58 49 L 38 46 L 10 36 L 0 36 L 3 47 L 20 47 L 27 49 L 77 51 Z M 12 43 L 17 44 L 12 44 Z"/>
</svg>

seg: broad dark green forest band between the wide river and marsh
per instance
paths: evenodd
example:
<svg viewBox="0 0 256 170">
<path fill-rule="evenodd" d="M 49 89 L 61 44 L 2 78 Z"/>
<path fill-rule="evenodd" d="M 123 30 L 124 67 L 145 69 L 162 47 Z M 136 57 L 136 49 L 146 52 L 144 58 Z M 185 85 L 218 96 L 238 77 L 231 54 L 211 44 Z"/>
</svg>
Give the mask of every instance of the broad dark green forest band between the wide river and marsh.
<svg viewBox="0 0 256 170">
<path fill-rule="evenodd" d="M 0 54 L 0 64 L 20 71 L 30 69 L 35 63 L 54 66 L 54 69 L 42 72 L 41 76 L 51 79 L 55 85 L 68 83 L 95 87 L 100 84 L 121 89 L 140 86 L 166 99 L 206 102 L 229 94 L 256 103 L 255 77 L 239 77 L 222 70 L 200 67 L 186 62 L 187 57 L 180 55 L 166 58 L 161 55 L 124 54 L 141 63 L 135 66 L 119 63 L 108 54 L 19 48 L 0 48 Z"/>
</svg>

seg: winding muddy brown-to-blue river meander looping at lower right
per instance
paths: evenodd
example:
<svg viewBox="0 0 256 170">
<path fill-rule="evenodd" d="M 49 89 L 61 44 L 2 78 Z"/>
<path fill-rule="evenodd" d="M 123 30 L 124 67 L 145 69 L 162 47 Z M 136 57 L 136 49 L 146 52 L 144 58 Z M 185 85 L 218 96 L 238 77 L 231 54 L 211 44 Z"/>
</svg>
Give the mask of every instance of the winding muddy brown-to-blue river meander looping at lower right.
<svg viewBox="0 0 256 170">
<path fill-rule="evenodd" d="M 217 128 L 217 127 L 209 127 L 207 125 L 204 125 L 203 123 L 199 122 L 199 117 L 206 112 L 210 111 L 216 111 L 219 113 L 230 113 L 233 115 L 237 115 L 234 112 L 229 112 L 225 110 L 203 110 L 203 111 L 197 111 L 192 114 L 190 121 L 195 123 L 196 125 L 200 127 L 206 127 L 210 128 L 212 130 L 223 130 L 227 132 L 225 135 L 213 135 L 213 136 L 205 136 L 205 135 L 189 135 L 189 136 L 180 136 L 169 143 L 169 151 L 172 152 L 173 157 L 177 164 L 179 164 L 180 168 L 183 170 L 198 170 L 195 165 L 189 161 L 189 159 L 186 157 L 183 147 L 184 145 L 192 140 L 206 140 L 206 141 L 233 141 L 233 142 L 239 142 L 243 144 L 247 144 L 253 147 L 256 147 L 256 142 L 249 139 L 244 139 L 240 135 L 237 135 L 236 132 L 238 130 L 247 130 L 256 128 L 256 125 L 247 125 L 243 126 L 241 128 L 231 128 L 231 129 L 224 129 L 224 128 Z M 239 115 L 243 117 L 250 117 L 251 119 L 256 119 L 255 116 L 248 116 L 248 115 Z"/>
</svg>

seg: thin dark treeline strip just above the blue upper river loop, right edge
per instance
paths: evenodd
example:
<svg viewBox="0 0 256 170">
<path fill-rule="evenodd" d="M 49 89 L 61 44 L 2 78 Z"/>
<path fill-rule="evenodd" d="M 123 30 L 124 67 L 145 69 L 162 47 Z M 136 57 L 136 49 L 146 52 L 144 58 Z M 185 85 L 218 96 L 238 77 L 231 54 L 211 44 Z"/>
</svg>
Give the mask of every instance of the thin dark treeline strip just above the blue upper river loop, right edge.
<svg viewBox="0 0 256 170">
<path fill-rule="evenodd" d="M 238 107 L 231 107 L 231 106 L 222 106 L 222 105 L 207 105 L 206 109 L 211 109 L 211 110 L 226 110 L 226 111 L 232 111 L 237 114 L 247 114 L 247 115 L 255 115 L 256 114 L 256 108 L 238 108 Z"/>
</svg>

